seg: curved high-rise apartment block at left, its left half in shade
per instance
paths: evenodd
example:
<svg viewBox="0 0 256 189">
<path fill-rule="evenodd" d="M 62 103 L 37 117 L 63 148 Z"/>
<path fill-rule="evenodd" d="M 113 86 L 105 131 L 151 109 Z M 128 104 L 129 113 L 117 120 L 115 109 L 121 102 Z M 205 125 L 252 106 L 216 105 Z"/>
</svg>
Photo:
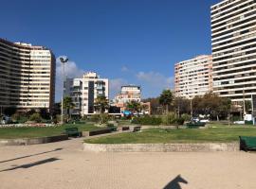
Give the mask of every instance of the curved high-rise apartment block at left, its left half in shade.
<svg viewBox="0 0 256 189">
<path fill-rule="evenodd" d="M 55 57 L 44 46 L 0 39 L 0 106 L 51 109 L 55 95 Z"/>
</svg>

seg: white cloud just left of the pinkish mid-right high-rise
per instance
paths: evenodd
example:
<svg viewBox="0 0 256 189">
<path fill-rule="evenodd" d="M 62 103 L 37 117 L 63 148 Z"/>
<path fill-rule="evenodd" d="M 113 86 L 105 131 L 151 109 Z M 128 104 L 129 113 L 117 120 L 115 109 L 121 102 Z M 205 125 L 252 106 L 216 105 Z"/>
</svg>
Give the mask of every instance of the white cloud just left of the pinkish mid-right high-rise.
<svg viewBox="0 0 256 189">
<path fill-rule="evenodd" d="M 162 89 L 174 88 L 174 77 L 165 77 L 164 75 L 157 72 L 138 72 L 137 79 L 141 82 L 147 83 L 152 87 L 152 89 L 155 87 Z"/>
</svg>

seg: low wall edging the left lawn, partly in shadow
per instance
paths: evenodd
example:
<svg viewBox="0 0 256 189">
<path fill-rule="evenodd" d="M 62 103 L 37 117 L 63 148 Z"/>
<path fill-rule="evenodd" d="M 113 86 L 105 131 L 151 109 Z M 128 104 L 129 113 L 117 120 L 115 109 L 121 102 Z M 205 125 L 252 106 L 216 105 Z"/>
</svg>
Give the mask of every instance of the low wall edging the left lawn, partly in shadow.
<svg viewBox="0 0 256 189">
<path fill-rule="evenodd" d="M 37 145 L 45 143 L 53 143 L 58 141 L 67 140 L 66 134 L 58 136 L 47 136 L 41 138 L 30 138 L 30 139 L 0 139 L 0 146 L 26 146 L 26 145 Z"/>
</svg>

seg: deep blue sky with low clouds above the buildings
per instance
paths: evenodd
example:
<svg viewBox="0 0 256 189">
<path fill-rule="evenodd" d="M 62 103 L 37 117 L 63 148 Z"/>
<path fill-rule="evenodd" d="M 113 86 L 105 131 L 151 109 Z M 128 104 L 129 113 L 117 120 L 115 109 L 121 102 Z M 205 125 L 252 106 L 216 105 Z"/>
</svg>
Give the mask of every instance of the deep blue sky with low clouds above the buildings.
<svg viewBox="0 0 256 189">
<path fill-rule="evenodd" d="M 1 0 L 0 38 L 67 56 L 67 77 L 95 71 L 142 96 L 174 88 L 174 64 L 210 54 L 210 6 L 221 0 Z M 56 100 L 61 96 L 57 60 Z"/>
</svg>

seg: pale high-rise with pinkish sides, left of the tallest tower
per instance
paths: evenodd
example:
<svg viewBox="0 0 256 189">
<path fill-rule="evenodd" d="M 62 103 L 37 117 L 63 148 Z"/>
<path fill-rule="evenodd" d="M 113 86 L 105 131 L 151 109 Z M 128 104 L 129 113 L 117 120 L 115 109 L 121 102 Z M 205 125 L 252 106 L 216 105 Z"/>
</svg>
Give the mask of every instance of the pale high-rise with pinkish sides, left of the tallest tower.
<svg viewBox="0 0 256 189">
<path fill-rule="evenodd" d="M 212 91 L 212 58 L 201 55 L 175 64 L 175 95 L 193 98 Z"/>
</svg>

